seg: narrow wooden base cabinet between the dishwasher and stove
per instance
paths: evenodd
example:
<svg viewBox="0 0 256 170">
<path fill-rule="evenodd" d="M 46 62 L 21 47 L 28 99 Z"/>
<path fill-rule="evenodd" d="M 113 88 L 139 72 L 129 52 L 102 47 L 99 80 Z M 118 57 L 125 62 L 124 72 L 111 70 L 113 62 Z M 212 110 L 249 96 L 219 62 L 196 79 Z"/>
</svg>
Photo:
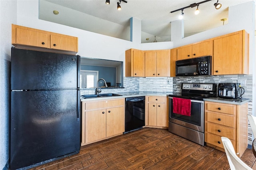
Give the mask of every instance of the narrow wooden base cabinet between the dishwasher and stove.
<svg viewBox="0 0 256 170">
<path fill-rule="evenodd" d="M 147 127 L 168 127 L 167 97 L 146 96 L 146 126 Z"/>
</svg>

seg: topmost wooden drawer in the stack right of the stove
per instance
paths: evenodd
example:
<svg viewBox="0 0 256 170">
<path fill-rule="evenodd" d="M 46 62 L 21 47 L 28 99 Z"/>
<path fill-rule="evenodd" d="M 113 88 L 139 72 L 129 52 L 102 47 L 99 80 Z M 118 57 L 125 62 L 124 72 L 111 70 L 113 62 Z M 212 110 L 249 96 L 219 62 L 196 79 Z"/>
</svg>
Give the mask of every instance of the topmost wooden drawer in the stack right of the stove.
<svg viewBox="0 0 256 170">
<path fill-rule="evenodd" d="M 236 106 L 235 105 L 227 106 L 227 105 L 218 105 L 218 104 L 207 103 L 206 110 L 234 115 L 234 113 L 236 111 Z"/>
</svg>

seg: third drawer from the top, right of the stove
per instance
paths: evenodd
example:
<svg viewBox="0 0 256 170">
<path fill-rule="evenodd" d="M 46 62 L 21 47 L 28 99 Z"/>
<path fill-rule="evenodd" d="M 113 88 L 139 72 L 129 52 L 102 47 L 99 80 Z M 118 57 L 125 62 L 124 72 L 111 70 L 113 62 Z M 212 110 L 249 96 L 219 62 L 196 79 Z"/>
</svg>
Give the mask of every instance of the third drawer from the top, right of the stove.
<svg viewBox="0 0 256 170">
<path fill-rule="evenodd" d="M 207 132 L 219 135 L 219 136 L 224 136 L 229 139 L 235 139 L 234 137 L 234 128 L 229 128 L 229 127 L 224 127 L 221 125 L 215 125 L 212 123 L 207 123 Z"/>
</svg>

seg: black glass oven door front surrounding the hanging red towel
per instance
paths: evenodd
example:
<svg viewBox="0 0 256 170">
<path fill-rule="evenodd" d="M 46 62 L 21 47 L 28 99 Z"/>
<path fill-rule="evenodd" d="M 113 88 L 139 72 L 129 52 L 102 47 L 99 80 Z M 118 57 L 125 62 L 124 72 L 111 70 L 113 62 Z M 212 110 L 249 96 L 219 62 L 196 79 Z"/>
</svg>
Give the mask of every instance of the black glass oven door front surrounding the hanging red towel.
<svg viewBox="0 0 256 170">
<path fill-rule="evenodd" d="M 173 113 L 172 99 L 170 99 L 170 117 L 193 125 L 201 126 L 201 113 L 204 112 L 201 109 L 202 103 L 191 102 L 191 113 L 190 116 L 180 115 Z"/>
</svg>

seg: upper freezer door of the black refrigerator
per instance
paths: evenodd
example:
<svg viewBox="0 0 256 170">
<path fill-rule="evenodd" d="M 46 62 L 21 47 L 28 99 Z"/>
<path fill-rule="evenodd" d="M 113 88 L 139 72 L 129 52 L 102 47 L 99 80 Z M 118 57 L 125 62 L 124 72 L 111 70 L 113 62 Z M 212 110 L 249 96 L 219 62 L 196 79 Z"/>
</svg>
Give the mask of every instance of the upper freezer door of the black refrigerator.
<svg viewBox="0 0 256 170">
<path fill-rule="evenodd" d="M 80 56 L 12 48 L 11 90 L 77 89 Z"/>
</svg>

